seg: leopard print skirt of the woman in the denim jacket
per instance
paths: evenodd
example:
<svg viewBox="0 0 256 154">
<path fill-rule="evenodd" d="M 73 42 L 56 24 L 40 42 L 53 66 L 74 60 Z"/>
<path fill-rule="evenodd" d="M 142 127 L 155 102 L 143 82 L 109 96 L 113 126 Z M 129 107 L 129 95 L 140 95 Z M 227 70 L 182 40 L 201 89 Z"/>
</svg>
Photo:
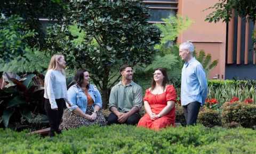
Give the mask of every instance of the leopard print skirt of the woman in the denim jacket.
<svg viewBox="0 0 256 154">
<path fill-rule="evenodd" d="M 92 115 L 92 113 L 93 113 L 92 106 L 87 106 L 87 110 L 85 114 Z M 71 128 L 90 126 L 90 125 L 99 125 L 99 126 L 107 125 L 107 121 L 103 116 L 101 110 L 99 110 L 97 114 L 97 118 L 94 121 L 89 121 L 88 119 L 82 116 L 79 116 L 73 112 L 70 112 L 69 109 L 65 109 L 62 116 L 62 123 L 60 124 L 60 129 L 68 130 Z"/>
</svg>

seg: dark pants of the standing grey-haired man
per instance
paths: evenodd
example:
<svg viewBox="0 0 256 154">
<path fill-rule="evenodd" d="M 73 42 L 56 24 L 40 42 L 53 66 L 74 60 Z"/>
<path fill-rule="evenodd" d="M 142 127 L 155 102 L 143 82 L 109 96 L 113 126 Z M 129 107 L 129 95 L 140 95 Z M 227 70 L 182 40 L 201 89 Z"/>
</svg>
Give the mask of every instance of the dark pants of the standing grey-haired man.
<svg viewBox="0 0 256 154">
<path fill-rule="evenodd" d="M 193 102 L 190 102 L 188 105 L 183 106 L 187 125 L 196 124 L 200 106 L 201 106 L 201 103 L 198 101 L 193 101 Z"/>
</svg>

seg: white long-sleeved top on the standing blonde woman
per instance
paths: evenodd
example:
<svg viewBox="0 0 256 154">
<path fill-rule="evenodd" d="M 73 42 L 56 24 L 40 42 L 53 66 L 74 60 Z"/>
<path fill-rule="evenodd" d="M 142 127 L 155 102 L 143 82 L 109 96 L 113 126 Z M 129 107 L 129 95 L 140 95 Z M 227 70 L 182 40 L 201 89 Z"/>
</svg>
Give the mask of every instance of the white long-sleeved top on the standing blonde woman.
<svg viewBox="0 0 256 154">
<path fill-rule="evenodd" d="M 51 108 L 58 108 L 55 99 L 67 100 L 66 76 L 58 70 L 48 70 L 44 78 L 44 98 L 49 99 Z"/>
</svg>

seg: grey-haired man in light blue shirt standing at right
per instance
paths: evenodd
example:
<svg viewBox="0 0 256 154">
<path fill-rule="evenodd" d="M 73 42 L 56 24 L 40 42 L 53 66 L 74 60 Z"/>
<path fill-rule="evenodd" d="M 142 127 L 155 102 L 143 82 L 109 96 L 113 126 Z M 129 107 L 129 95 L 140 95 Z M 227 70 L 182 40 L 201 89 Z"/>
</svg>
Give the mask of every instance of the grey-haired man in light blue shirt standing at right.
<svg viewBox="0 0 256 154">
<path fill-rule="evenodd" d="M 193 57 L 194 45 L 183 42 L 179 55 L 185 64 L 181 73 L 181 105 L 183 106 L 187 125 L 196 124 L 200 106 L 207 96 L 207 81 L 203 66 Z"/>
</svg>

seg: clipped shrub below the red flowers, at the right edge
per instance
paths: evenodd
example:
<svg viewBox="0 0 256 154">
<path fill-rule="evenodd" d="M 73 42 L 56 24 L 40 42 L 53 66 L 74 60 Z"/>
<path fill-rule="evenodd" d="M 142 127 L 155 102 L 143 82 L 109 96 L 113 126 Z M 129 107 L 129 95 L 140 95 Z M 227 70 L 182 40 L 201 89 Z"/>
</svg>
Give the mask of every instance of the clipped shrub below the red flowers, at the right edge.
<svg viewBox="0 0 256 154">
<path fill-rule="evenodd" d="M 256 125 L 256 105 L 245 102 L 226 102 L 222 106 L 222 125 L 230 126 L 231 123 L 238 123 L 243 127 Z"/>
</svg>

